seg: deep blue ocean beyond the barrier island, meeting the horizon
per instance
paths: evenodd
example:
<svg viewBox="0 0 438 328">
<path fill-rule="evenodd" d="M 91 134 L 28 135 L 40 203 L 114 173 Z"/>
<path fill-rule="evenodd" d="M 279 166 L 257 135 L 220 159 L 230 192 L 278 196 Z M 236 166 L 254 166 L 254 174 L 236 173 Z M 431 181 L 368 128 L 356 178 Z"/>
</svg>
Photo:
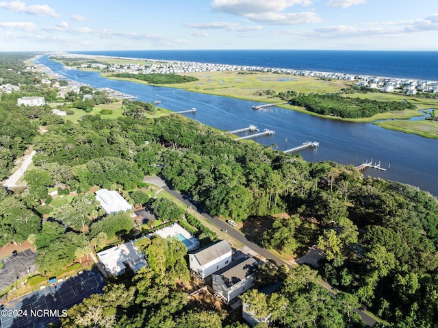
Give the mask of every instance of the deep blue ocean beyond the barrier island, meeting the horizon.
<svg viewBox="0 0 438 328">
<path fill-rule="evenodd" d="M 123 50 L 74 53 L 438 81 L 438 51 Z"/>
</svg>

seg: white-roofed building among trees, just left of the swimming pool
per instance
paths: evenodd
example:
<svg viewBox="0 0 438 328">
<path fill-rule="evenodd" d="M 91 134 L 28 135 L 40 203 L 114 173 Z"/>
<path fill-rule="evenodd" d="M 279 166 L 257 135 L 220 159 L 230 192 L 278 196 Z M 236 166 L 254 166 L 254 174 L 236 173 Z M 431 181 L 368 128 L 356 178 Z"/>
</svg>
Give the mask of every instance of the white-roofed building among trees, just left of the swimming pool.
<svg viewBox="0 0 438 328">
<path fill-rule="evenodd" d="M 127 266 L 137 273 L 143 266 L 148 266 L 143 253 L 138 251 L 134 242 L 127 242 L 97 253 L 99 262 L 105 268 L 105 275 L 118 276 L 125 273 Z"/>
</svg>

